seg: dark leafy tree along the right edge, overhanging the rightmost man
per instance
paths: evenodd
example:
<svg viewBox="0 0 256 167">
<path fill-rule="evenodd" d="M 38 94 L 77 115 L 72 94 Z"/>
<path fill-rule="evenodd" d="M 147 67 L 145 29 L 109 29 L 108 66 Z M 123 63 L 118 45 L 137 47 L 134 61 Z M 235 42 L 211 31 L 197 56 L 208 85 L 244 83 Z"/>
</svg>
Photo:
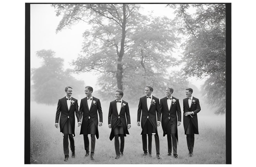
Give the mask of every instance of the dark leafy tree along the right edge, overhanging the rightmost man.
<svg viewBox="0 0 256 167">
<path fill-rule="evenodd" d="M 172 4 L 178 32 L 188 37 L 182 44 L 181 62 L 186 76 L 206 78 L 204 95 L 226 112 L 226 12 L 225 4 Z M 195 9 L 195 13 L 189 13 Z M 191 11 L 191 10 L 190 10 Z"/>
</svg>

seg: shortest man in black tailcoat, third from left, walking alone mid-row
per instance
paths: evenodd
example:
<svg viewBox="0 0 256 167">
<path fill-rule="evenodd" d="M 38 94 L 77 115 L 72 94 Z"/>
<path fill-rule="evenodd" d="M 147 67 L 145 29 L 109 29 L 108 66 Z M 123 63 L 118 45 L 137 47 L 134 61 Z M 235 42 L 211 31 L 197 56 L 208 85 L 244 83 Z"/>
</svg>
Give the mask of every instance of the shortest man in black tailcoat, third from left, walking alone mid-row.
<svg viewBox="0 0 256 167">
<path fill-rule="evenodd" d="M 123 96 L 124 93 L 122 90 L 115 92 L 116 100 L 110 102 L 108 112 L 108 127 L 111 128 L 109 139 L 112 140 L 115 137 L 115 159 L 118 159 L 120 155 L 124 155 L 124 137 L 126 134 L 129 135 L 128 129 L 131 127 L 129 106 L 128 103 L 122 99 Z M 120 147 L 119 137 L 121 141 Z"/>
</svg>

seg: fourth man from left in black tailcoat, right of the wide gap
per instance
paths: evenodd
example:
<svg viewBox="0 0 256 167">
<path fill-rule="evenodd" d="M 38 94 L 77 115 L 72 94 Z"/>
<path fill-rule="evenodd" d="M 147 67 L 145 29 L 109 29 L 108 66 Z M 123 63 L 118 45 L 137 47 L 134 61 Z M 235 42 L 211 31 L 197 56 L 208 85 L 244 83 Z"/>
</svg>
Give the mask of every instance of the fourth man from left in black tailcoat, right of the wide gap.
<svg viewBox="0 0 256 167">
<path fill-rule="evenodd" d="M 151 157 L 151 146 L 152 146 L 152 135 L 155 137 L 156 143 L 156 157 L 161 160 L 159 153 L 159 136 L 157 132 L 157 126 L 161 123 L 161 113 L 159 110 L 159 99 L 152 96 L 153 88 L 151 86 L 146 86 L 145 93 L 146 96 L 140 98 L 138 105 L 138 117 L 137 125 L 140 126 L 141 117 L 141 128 L 142 128 L 142 146 L 144 151 L 144 156 L 149 153 Z M 157 123 L 156 123 L 157 120 Z M 148 152 L 147 152 L 147 135 L 148 135 Z"/>
</svg>

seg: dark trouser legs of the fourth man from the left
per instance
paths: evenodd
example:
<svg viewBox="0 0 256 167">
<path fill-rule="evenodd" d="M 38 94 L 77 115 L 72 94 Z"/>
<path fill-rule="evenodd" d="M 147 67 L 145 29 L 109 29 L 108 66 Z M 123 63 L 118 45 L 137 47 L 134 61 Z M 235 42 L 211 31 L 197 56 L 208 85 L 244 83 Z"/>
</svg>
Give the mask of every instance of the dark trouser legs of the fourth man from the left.
<svg viewBox="0 0 256 167">
<path fill-rule="evenodd" d="M 156 144 L 156 155 L 159 155 L 159 138 L 155 136 L 155 144 Z M 148 134 L 148 151 L 147 151 L 147 135 L 146 134 L 142 134 L 142 147 L 143 147 L 143 151 L 144 153 L 149 153 L 151 154 L 151 148 L 152 148 L 152 134 Z"/>
</svg>

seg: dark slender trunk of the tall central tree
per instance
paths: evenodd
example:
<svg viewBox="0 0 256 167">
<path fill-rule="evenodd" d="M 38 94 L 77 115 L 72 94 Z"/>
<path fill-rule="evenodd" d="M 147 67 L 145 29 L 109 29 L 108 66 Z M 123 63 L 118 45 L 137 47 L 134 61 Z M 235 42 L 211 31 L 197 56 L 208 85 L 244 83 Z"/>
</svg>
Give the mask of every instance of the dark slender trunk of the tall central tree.
<svg viewBox="0 0 256 167">
<path fill-rule="evenodd" d="M 116 73 L 116 79 L 117 79 L 117 87 L 120 90 L 123 90 L 123 65 L 122 65 L 122 57 L 124 55 L 124 39 L 125 39 L 125 31 L 126 28 L 126 5 L 123 4 L 123 23 L 122 23 L 122 39 L 121 39 L 121 48 L 118 55 L 118 63 L 117 63 L 117 73 Z"/>
</svg>

